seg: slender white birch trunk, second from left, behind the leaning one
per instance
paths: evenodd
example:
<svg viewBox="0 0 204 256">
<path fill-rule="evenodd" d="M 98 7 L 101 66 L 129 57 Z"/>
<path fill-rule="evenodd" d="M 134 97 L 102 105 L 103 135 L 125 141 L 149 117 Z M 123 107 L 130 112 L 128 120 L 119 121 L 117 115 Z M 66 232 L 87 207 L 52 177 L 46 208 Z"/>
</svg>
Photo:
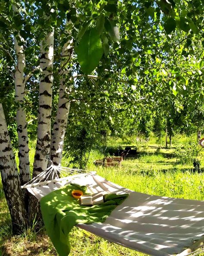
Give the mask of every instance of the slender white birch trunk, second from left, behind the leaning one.
<svg viewBox="0 0 204 256">
<path fill-rule="evenodd" d="M 12 6 L 13 12 L 17 12 L 16 6 Z M 23 42 L 24 39 L 18 34 L 18 37 Z M 17 103 L 16 122 L 19 143 L 19 173 L 21 185 L 30 180 L 30 162 L 29 162 L 29 148 L 28 148 L 28 130 L 26 114 L 24 109 L 25 97 L 25 81 L 24 81 L 24 68 L 25 68 L 25 54 L 23 45 L 19 45 L 14 37 L 14 46 L 17 59 L 17 65 L 14 74 L 15 83 L 15 102 Z"/>
</svg>

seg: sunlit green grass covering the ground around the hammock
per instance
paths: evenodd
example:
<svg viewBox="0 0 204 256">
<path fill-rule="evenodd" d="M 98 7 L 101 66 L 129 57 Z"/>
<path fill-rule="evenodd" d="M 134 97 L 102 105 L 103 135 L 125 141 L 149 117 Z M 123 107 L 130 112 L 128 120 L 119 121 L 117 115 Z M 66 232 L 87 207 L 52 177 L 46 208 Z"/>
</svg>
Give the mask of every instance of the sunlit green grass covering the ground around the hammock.
<svg viewBox="0 0 204 256">
<path fill-rule="evenodd" d="M 177 136 L 176 144 L 185 145 L 192 138 Z M 156 141 L 151 137 L 148 142 L 136 141 L 136 138 L 128 138 L 125 141 L 118 138 L 110 139 L 108 147 L 124 148 L 125 146 L 138 148 L 136 158 L 126 158 L 121 168 L 96 167 L 93 160 L 103 158 L 104 151 L 95 150 L 90 155 L 88 170 L 96 170 L 97 173 L 114 183 L 127 187 L 137 192 L 204 200 L 204 173 L 192 171 L 192 164 L 178 164 L 175 157 L 174 145 L 164 148 L 164 140 Z M 31 163 L 34 157 L 34 143 L 31 144 Z M 107 152 L 105 153 L 107 154 Z M 204 152 L 200 152 L 203 159 Z M 63 159 L 62 165 L 67 166 L 68 160 Z M 203 169 L 204 162 L 201 161 Z M 114 243 L 108 242 L 85 230 L 76 227 L 71 231 L 70 256 L 145 256 Z M 80 237 L 80 239 L 78 239 Z M 39 233 L 26 230 L 21 236 L 11 235 L 9 211 L 4 198 L 2 184 L 0 182 L 0 256 L 56 256 L 49 237 L 45 230 Z M 204 255 L 204 254 L 200 254 Z"/>
</svg>

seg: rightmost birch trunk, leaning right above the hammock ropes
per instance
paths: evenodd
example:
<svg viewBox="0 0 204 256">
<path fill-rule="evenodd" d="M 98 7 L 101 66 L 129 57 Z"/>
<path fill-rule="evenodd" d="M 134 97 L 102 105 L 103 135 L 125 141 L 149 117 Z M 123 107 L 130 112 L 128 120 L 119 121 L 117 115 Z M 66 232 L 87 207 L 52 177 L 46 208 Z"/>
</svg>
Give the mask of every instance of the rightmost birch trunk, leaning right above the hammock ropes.
<svg viewBox="0 0 204 256">
<path fill-rule="evenodd" d="M 61 165 L 62 161 L 62 150 L 65 140 L 65 131 L 68 122 L 68 115 L 70 109 L 70 102 L 68 99 L 68 92 L 71 90 L 71 86 L 67 88 L 67 71 L 65 70 L 65 65 L 67 58 L 63 56 L 68 56 L 70 51 L 70 44 L 72 42 L 67 42 L 62 48 L 62 61 L 60 70 L 60 82 L 59 82 L 59 99 L 58 107 L 56 112 L 55 122 L 53 124 L 51 145 L 50 145 L 50 159 L 57 166 Z M 70 53 L 71 54 L 71 53 Z"/>
</svg>

